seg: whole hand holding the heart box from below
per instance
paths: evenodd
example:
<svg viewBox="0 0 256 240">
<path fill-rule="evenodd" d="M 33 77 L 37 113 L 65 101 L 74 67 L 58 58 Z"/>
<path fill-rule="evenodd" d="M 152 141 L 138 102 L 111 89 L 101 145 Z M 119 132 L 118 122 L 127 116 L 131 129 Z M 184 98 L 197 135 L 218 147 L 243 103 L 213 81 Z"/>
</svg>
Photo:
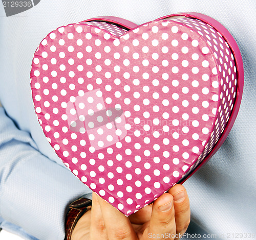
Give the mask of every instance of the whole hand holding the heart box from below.
<svg viewBox="0 0 256 240">
<path fill-rule="evenodd" d="M 92 209 L 79 219 L 71 240 L 177 240 L 189 222 L 188 196 L 179 184 L 129 217 L 93 193 Z"/>
</svg>

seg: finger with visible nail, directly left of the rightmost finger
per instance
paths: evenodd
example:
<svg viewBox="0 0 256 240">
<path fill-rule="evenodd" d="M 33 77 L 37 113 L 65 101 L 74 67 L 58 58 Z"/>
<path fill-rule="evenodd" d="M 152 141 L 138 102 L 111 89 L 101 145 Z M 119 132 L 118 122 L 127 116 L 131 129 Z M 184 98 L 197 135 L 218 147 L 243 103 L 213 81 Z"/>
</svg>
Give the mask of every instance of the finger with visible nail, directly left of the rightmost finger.
<svg viewBox="0 0 256 240">
<path fill-rule="evenodd" d="M 153 203 L 148 238 L 174 239 L 176 234 L 173 196 L 165 193 Z M 164 238 L 163 238 L 164 237 Z"/>
</svg>

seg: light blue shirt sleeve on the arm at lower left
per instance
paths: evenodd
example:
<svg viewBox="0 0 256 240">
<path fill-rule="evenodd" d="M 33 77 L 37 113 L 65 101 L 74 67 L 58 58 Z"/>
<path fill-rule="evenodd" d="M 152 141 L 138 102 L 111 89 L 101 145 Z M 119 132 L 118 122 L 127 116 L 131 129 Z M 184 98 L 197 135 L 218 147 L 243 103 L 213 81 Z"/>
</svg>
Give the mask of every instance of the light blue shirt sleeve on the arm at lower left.
<svg viewBox="0 0 256 240">
<path fill-rule="evenodd" d="M 32 142 L 0 107 L 0 216 L 37 239 L 63 240 L 68 204 L 91 190 Z"/>
</svg>

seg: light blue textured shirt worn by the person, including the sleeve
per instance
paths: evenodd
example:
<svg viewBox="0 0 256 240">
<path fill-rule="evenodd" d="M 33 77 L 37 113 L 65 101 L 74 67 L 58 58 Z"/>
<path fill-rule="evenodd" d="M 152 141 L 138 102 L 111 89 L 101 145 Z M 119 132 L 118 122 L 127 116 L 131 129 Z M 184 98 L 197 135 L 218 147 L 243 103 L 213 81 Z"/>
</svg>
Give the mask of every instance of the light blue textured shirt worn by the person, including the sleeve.
<svg viewBox="0 0 256 240">
<path fill-rule="evenodd" d="M 4 106 L 0 108 L 0 227 L 25 239 L 63 239 L 68 203 L 91 193 L 63 165 L 37 121 L 30 68 L 39 42 L 59 26 L 95 16 L 119 16 L 141 24 L 194 11 L 219 20 L 237 40 L 245 87 L 240 113 L 224 145 L 184 184 L 192 219 L 188 233 L 217 234 L 217 239 L 227 239 L 230 233 L 255 233 L 253 0 L 42 0 L 11 17 L 5 17 L 0 5 L 0 101 Z"/>
</svg>

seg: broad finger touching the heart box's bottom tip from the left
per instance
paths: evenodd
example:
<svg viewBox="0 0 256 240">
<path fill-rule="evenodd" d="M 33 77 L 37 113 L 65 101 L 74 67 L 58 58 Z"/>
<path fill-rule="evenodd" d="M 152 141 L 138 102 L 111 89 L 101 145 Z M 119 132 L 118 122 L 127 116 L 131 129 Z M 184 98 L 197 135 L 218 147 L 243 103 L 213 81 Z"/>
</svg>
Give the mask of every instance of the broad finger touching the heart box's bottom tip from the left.
<svg viewBox="0 0 256 240">
<path fill-rule="evenodd" d="M 111 204 L 97 196 L 99 201 L 103 220 L 106 227 L 106 233 L 110 240 L 137 240 L 136 233 L 132 227 L 129 218 L 114 208 Z"/>
</svg>

